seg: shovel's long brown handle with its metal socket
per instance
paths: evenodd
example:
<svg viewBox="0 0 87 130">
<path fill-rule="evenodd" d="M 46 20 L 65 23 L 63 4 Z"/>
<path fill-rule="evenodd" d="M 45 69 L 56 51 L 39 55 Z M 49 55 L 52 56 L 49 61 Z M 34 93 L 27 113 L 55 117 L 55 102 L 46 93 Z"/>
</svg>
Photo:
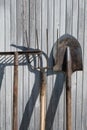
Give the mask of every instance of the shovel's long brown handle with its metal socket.
<svg viewBox="0 0 87 130">
<path fill-rule="evenodd" d="M 71 110 L 71 74 L 72 61 L 70 48 L 67 47 L 67 72 L 66 72 L 66 130 L 72 130 L 72 110 Z"/>
</svg>

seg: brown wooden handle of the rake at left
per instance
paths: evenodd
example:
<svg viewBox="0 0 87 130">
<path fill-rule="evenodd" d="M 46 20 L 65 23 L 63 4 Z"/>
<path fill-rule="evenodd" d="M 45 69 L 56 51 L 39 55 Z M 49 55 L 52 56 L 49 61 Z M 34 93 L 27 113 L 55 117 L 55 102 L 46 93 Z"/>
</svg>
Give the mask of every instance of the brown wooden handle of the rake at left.
<svg viewBox="0 0 87 130">
<path fill-rule="evenodd" d="M 14 53 L 13 130 L 18 130 L 18 52 Z"/>
</svg>

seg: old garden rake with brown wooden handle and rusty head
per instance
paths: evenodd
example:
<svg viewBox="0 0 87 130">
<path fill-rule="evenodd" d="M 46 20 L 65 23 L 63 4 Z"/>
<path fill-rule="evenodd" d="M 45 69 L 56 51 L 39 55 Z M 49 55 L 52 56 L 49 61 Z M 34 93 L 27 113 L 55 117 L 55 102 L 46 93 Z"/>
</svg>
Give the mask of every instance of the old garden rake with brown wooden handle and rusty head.
<svg viewBox="0 0 87 130">
<path fill-rule="evenodd" d="M 34 49 L 31 51 L 2 52 L 3 55 L 14 55 L 14 84 L 13 84 L 13 130 L 18 130 L 18 55 L 38 55 L 42 52 Z"/>
</svg>

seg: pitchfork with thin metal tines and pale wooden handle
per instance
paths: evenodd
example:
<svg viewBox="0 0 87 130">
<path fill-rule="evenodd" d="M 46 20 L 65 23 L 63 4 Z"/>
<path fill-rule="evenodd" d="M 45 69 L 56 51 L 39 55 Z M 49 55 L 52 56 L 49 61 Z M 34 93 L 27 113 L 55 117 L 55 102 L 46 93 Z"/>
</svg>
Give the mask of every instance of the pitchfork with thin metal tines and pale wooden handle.
<svg viewBox="0 0 87 130">
<path fill-rule="evenodd" d="M 47 37 L 47 56 L 48 56 L 48 30 L 46 30 L 46 37 Z M 36 44 L 37 48 L 39 49 L 38 45 L 38 34 L 36 30 Z M 40 130 L 45 130 L 45 118 L 46 118 L 46 87 L 47 87 L 47 80 L 46 80 L 46 70 L 48 69 L 48 57 L 45 55 L 44 52 L 37 56 L 37 67 L 32 66 L 31 68 L 37 69 L 40 71 L 41 77 L 41 85 L 40 85 Z M 46 60 L 46 66 L 43 63 L 43 57 Z M 30 62 L 30 61 L 29 61 Z"/>
</svg>

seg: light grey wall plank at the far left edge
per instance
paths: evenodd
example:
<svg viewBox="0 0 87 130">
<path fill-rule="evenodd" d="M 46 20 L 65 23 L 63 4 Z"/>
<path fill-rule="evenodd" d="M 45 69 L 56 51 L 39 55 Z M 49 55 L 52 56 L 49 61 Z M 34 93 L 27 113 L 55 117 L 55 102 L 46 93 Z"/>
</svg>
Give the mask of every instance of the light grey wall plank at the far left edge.
<svg viewBox="0 0 87 130">
<path fill-rule="evenodd" d="M 5 1 L 1 0 L 0 1 L 0 51 L 4 51 L 5 50 Z M 0 86 L 0 129 L 5 130 L 5 124 L 6 124 L 6 120 L 5 120 L 5 68 L 1 67 L 1 70 L 3 70 L 3 76 L 1 75 L 0 77 L 0 82 L 1 82 L 1 86 Z"/>
</svg>

